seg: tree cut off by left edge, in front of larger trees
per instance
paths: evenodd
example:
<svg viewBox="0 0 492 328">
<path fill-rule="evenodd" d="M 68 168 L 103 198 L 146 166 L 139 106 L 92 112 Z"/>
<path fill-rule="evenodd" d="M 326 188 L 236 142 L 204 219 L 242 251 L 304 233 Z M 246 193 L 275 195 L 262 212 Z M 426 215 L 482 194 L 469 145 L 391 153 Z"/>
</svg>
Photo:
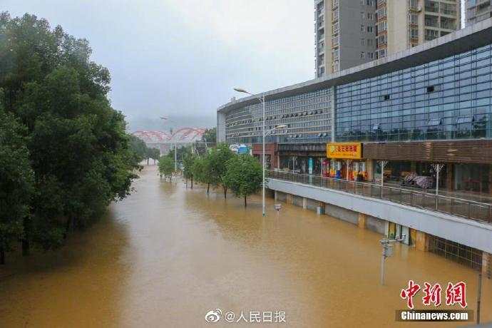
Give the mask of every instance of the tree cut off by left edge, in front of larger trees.
<svg viewBox="0 0 492 328">
<path fill-rule="evenodd" d="M 0 265 L 5 252 L 24 232 L 24 219 L 34 193 L 34 173 L 23 135 L 26 128 L 0 102 Z"/>
</svg>

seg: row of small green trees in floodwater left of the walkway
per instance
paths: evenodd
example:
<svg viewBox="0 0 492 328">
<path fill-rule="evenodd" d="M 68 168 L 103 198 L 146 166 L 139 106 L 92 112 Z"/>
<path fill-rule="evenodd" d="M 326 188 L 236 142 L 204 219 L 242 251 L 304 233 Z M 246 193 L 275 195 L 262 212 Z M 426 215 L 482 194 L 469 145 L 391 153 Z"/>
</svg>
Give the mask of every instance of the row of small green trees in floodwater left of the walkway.
<svg viewBox="0 0 492 328">
<path fill-rule="evenodd" d="M 161 177 L 172 178 L 175 170 L 174 158 L 167 155 L 159 160 Z M 232 190 L 237 197 L 242 197 L 247 205 L 247 197 L 257 193 L 262 185 L 262 166 L 251 155 L 237 155 L 225 143 L 219 143 L 205 155 L 199 156 L 191 152 L 183 154 L 183 177 L 193 182 L 210 187 L 222 188 L 224 198 L 227 190 Z"/>
</svg>

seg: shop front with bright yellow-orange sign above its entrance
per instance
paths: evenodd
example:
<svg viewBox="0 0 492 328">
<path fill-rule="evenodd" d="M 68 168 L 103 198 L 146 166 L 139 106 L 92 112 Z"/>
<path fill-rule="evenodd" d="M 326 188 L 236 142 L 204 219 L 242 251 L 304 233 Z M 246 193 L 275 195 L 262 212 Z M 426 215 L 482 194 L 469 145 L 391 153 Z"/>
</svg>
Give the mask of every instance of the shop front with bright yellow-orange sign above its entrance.
<svg viewBox="0 0 492 328">
<path fill-rule="evenodd" d="M 327 159 L 330 178 L 367 180 L 367 163 L 362 158 L 362 143 L 328 143 Z"/>
</svg>

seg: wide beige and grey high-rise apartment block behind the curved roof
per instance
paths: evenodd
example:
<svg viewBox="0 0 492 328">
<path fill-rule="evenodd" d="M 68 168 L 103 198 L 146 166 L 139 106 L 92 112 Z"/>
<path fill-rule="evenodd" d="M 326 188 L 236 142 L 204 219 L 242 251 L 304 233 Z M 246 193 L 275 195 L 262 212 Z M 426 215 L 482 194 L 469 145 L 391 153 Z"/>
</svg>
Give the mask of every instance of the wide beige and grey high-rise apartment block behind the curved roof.
<svg viewBox="0 0 492 328">
<path fill-rule="evenodd" d="M 316 76 L 449 34 L 460 8 L 460 0 L 315 0 Z"/>
</svg>

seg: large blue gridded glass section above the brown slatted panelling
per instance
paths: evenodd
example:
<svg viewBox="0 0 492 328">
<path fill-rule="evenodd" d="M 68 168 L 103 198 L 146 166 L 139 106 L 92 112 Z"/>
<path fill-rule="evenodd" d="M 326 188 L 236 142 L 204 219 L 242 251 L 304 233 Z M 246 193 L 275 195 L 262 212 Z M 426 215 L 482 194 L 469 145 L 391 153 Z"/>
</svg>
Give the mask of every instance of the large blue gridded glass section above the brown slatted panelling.
<svg viewBox="0 0 492 328">
<path fill-rule="evenodd" d="M 491 138 L 491 45 L 337 86 L 337 141 Z"/>
</svg>

